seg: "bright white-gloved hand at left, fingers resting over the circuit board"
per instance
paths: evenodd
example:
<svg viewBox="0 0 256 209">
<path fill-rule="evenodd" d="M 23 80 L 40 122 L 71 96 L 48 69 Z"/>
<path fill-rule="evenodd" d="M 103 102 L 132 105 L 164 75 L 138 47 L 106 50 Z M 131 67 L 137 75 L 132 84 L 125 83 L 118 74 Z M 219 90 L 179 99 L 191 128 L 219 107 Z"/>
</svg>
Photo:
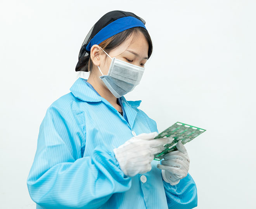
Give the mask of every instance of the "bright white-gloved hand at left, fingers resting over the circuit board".
<svg viewBox="0 0 256 209">
<path fill-rule="evenodd" d="M 157 132 L 142 133 L 127 140 L 118 148 L 113 149 L 121 170 L 127 176 L 146 173 L 151 170 L 154 154 L 164 150 L 170 138 L 154 139 Z"/>
</svg>

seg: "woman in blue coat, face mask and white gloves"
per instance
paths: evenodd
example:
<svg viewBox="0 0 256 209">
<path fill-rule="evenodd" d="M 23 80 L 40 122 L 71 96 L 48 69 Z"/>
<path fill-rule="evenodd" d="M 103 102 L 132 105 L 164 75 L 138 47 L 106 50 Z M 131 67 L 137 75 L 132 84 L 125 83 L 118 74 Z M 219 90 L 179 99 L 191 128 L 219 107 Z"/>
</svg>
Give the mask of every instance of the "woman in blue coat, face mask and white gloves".
<svg viewBox="0 0 256 209">
<path fill-rule="evenodd" d="M 27 179 L 36 208 L 185 209 L 197 206 L 189 156 L 181 141 L 164 160 L 154 154 L 172 139 L 126 101 L 152 53 L 145 21 L 112 11 L 92 27 L 79 53 L 70 93 L 47 109 Z"/>
</svg>

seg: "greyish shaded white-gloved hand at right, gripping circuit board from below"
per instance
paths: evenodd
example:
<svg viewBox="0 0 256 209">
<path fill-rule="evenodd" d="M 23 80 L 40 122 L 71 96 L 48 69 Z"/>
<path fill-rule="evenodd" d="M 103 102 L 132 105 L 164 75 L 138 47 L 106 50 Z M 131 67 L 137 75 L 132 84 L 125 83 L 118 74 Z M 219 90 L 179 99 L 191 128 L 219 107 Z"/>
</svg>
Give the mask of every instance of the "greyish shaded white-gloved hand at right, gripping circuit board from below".
<svg viewBox="0 0 256 209">
<path fill-rule="evenodd" d="M 176 185 L 182 178 L 185 178 L 189 171 L 189 155 L 182 140 L 179 140 L 176 151 L 164 155 L 162 164 L 157 168 L 162 169 L 163 180 L 171 185 Z"/>
</svg>

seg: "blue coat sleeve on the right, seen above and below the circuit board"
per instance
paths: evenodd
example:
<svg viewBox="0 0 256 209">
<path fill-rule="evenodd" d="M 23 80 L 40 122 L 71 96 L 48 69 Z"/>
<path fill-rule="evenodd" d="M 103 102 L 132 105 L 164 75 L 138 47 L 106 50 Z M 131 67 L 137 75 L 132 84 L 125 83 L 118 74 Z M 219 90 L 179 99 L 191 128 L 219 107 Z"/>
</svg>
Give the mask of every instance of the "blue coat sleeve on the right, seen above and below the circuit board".
<svg viewBox="0 0 256 209">
<path fill-rule="evenodd" d="M 142 110 L 140 110 L 145 119 L 149 128 L 152 132 L 157 132 L 157 124 L 152 118 L 146 115 Z M 161 162 L 161 161 L 160 161 Z M 162 178 L 163 180 L 163 178 Z M 197 188 L 192 176 L 188 175 L 181 179 L 177 185 L 170 185 L 163 180 L 164 191 L 166 194 L 168 208 L 172 209 L 191 209 L 197 206 Z"/>
</svg>

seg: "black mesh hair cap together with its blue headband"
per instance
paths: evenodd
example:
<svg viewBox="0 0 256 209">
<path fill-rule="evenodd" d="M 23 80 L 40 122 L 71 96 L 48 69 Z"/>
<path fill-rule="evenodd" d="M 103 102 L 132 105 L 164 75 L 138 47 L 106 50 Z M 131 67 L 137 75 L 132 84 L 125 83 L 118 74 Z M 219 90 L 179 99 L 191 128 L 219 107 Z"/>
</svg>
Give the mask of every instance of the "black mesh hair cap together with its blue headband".
<svg viewBox="0 0 256 209">
<path fill-rule="evenodd" d="M 86 71 L 91 47 L 132 27 L 145 27 L 146 22 L 132 12 L 114 10 L 103 15 L 94 24 L 81 46 L 76 71 Z"/>
</svg>

